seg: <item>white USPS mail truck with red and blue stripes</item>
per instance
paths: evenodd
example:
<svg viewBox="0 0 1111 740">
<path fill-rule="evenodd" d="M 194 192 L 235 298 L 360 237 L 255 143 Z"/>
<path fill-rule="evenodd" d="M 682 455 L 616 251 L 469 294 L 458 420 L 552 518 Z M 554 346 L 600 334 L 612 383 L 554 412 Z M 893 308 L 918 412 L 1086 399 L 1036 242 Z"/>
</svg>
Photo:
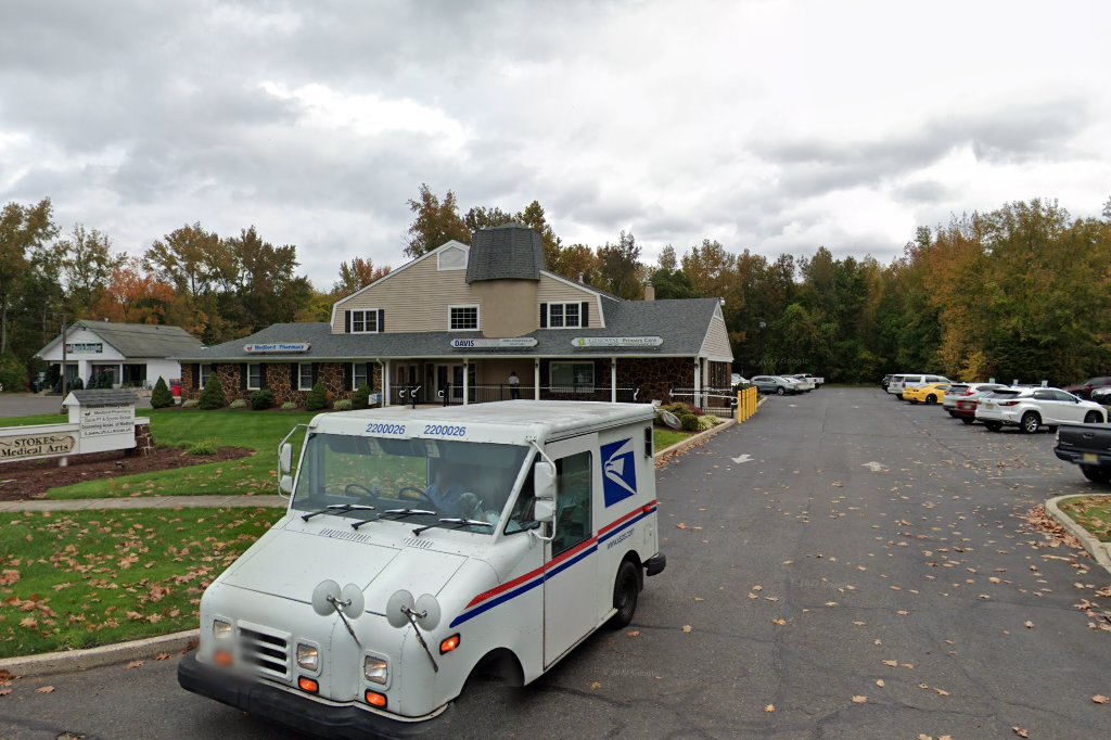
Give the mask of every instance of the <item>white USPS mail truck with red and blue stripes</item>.
<svg viewBox="0 0 1111 740">
<path fill-rule="evenodd" d="M 416 730 L 632 619 L 659 549 L 651 406 L 326 413 L 289 510 L 204 591 L 190 691 L 329 737 Z M 287 438 L 288 439 L 288 438 Z"/>
</svg>

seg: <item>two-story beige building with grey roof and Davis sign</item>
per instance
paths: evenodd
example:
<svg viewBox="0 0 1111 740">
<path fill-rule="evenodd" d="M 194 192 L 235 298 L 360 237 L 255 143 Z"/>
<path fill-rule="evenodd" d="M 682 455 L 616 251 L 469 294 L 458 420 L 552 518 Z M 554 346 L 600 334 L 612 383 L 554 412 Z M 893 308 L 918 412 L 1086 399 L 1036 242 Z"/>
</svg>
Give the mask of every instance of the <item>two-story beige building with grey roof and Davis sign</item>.
<svg viewBox="0 0 1111 740">
<path fill-rule="evenodd" d="M 370 383 L 386 404 L 668 402 L 674 388 L 728 388 L 720 301 L 657 301 L 650 289 L 645 299 L 550 272 L 527 227 L 483 229 L 341 299 L 328 323 L 274 324 L 182 354 L 183 393 L 213 377 L 229 398 L 269 388 L 279 402 L 303 401 L 317 382 L 333 400 Z"/>
</svg>

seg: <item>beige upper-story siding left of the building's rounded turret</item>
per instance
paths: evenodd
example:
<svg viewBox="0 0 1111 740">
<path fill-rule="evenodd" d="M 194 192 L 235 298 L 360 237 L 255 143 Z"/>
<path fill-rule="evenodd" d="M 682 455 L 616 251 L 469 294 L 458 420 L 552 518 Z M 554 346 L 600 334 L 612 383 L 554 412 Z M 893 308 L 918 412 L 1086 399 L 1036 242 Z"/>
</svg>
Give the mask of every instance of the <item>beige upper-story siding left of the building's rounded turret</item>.
<svg viewBox="0 0 1111 740">
<path fill-rule="evenodd" d="M 332 332 L 343 333 L 343 311 L 382 309 L 386 331 L 447 331 L 448 307 L 482 301 L 467 284 L 466 270 L 439 270 L 436 257 L 421 260 L 336 307 Z M 479 321 L 482 310 L 479 309 Z"/>
</svg>

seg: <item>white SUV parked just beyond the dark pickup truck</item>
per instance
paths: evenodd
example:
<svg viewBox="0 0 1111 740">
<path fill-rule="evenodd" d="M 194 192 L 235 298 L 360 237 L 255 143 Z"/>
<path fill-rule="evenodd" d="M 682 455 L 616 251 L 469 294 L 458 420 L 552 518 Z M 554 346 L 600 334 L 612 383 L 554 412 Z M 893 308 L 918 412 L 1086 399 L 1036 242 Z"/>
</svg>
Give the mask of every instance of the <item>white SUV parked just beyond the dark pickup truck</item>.
<svg viewBox="0 0 1111 740">
<path fill-rule="evenodd" d="M 1104 423 L 1107 411 L 1058 388 L 997 388 L 980 399 L 975 418 L 988 431 L 1009 426 L 1033 434 L 1043 424 Z"/>
</svg>

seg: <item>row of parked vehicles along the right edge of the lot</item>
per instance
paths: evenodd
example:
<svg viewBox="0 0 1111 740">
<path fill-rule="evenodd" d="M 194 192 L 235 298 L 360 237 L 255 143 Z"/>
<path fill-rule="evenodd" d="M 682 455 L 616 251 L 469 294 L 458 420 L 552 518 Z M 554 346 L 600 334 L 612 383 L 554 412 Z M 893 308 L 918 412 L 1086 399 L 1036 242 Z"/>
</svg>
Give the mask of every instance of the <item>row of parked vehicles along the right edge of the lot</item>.
<svg viewBox="0 0 1111 740">
<path fill-rule="evenodd" d="M 1100 380 L 1100 379 L 1092 379 Z M 1002 383 L 959 383 L 943 376 L 901 373 L 887 376 L 884 389 L 910 403 L 941 403 L 954 419 L 965 424 L 981 422 L 988 431 L 1015 427 L 1027 434 L 1041 428 L 1057 433 L 1054 453 L 1080 466 L 1091 481 L 1111 482 L 1111 404 L 1109 386 L 1087 384 L 1089 400 L 1068 389 Z"/>
</svg>

